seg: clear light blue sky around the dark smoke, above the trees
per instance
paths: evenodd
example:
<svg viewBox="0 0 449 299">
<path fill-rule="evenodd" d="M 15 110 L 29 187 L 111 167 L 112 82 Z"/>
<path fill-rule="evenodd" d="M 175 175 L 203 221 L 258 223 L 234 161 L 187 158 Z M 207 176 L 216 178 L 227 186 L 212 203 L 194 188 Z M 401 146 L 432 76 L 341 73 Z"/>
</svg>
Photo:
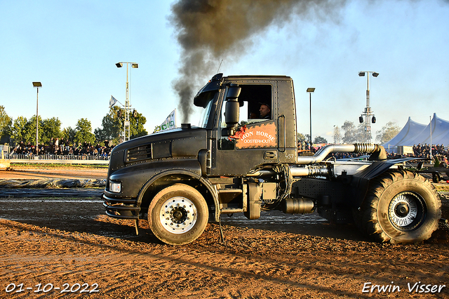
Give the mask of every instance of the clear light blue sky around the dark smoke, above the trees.
<svg viewBox="0 0 449 299">
<path fill-rule="evenodd" d="M 0 0 L 0 105 L 16 119 L 58 117 L 62 128 L 86 118 L 101 126 L 109 98 L 125 99 L 147 118 L 149 133 L 177 108 L 172 88 L 182 61 L 168 17 L 173 1 Z M 358 124 L 366 106 L 366 77 L 379 131 L 408 117 L 422 124 L 436 112 L 449 120 L 449 1 L 350 1 L 331 14 L 296 15 L 251 37 L 246 51 L 225 58 L 220 72 L 281 74 L 295 84 L 298 131 L 333 140 L 333 126 Z M 320 17 L 321 16 L 321 17 Z M 217 58 L 217 67 L 220 58 Z M 217 67 L 203 74 L 204 82 Z M 196 125 L 198 114 L 189 121 Z M 178 121 L 180 124 L 180 121 Z"/>
</svg>

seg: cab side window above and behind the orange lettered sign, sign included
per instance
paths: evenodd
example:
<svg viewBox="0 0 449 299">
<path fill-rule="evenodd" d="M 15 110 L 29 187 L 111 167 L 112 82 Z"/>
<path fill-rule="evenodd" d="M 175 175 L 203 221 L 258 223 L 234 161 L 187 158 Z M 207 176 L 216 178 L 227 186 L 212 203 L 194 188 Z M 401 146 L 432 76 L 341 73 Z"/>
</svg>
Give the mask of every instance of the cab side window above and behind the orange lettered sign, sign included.
<svg viewBox="0 0 449 299">
<path fill-rule="evenodd" d="M 257 147 L 274 147 L 276 146 L 276 126 L 273 119 L 272 112 L 272 85 L 241 85 L 241 93 L 239 96 L 239 123 L 236 124 L 236 135 L 234 136 L 221 136 L 218 140 L 219 150 L 234 150 L 239 148 L 257 148 Z M 226 102 L 222 102 L 222 109 L 220 115 L 220 130 L 226 128 L 225 123 L 225 107 Z M 269 143 L 266 140 L 257 142 L 255 140 L 250 145 L 242 145 L 245 141 L 245 136 L 253 134 L 251 130 L 254 128 L 262 127 L 263 130 L 269 129 L 273 131 L 271 140 Z M 253 130 L 254 131 L 254 130 Z M 246 133 L 248 132 L 248 133 Z M 257 131 L 259 132 L 259 131 Z M 268 133 L 264 133 L 265 137 Z M 272 136 L 269 135 L 269 136 Z M 261 135 L 262 136 L 262 135 Z M 262 136 L 263 137 L 263 136 Z M 261 137 L 261 138 L 262 138 Z M 263 137 L 263 138 L 265 138 Z"/>
</svg>

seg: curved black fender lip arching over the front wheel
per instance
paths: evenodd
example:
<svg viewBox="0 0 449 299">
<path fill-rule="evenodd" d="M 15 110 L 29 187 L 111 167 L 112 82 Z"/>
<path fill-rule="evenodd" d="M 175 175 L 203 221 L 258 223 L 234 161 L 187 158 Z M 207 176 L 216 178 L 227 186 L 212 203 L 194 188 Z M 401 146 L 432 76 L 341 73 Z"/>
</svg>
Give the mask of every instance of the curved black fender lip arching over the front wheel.
<svg viewBox="0 0 449 299">
<path fill-rule="evenodd" d="M 201 175 L 199 175 L 197 173 L 193 173 L 192 171 L 186 171 L 184 169 L 172 169 L 172 170 L 163 171 L 161 173 L 158 173 L 157 175 L 154 175 L 154 177 L 152 177 L 148 182 L 146 182 L 145 185 L 143 185 L 142 189 L 140 190 L 140 192 L 138 194 L 138 198 L 137 198 L 137 205 L 140 206 L 140 204 L 142 204 L 142 199 L 143 199 L 145 193 L 147 192 L 148 188 L 150 186 L 152 186 L 152 184 L 154 184 L 154 182 L 156 182 L 157 180 L 159 180 L 167 175 L 175 175 L 175 174 L 176 175 L 187 175 L 189 177 L 192 177 L 195 180 L 198 180 L 202 185 L 204 185 L 207 188 L 207 190 L 210 192 L 210 195 L 213 199 L 213 204 L 215 206 L 214 219 L 215 219 L 215 221 L 218 221 L 220 219 L 220 205 L 218 204 L 217 190 L 215 189 L 215 187 L 213 187 L 213 185 L 210 184 L 210 182 L 208 180 L 203 178 Z"/>
</svg>

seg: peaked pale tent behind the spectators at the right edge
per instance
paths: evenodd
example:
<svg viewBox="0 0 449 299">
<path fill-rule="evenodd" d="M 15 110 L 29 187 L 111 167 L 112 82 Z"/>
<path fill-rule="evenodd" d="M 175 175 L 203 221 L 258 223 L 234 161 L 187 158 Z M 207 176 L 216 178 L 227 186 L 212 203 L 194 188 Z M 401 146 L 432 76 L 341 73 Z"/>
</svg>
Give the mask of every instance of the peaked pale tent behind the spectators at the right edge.
<svg viewBox="0 0 449 299">
<path fill-rule="evenodd" d="M 398 146 L 413 146 L 420 143 L 424 145 L 448 145 L 449 144 L 449 121 L 440 119 L 434 113 L 434 117 L 431 122 L 425 126 L 419 124 L 408 117 L 406 126 L 402 130 L 391 138 L 391 140 L 385 142 L 383 146 L 385 149 L 393 150 Z"/>
</svg>

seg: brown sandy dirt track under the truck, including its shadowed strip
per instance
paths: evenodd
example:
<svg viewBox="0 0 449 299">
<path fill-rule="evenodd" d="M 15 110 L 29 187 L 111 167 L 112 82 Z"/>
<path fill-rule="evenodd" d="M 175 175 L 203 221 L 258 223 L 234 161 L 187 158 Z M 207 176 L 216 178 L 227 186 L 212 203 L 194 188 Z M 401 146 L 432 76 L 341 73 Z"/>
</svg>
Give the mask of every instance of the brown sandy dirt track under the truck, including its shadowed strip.
<svg viewBox="0 0 449 299">
<path fill-rule="evenodd" d="M 225 243 L 210 223 L 192 244 L 168 246 L 145 220 L 136 236 L 133 221 L 105 216 L 96 197 L 0 204 L 0 298 L 449 298 L 443 230 L 377 244 L 352 225 L 264 215 L 224 218 Z"/>
</svg>

